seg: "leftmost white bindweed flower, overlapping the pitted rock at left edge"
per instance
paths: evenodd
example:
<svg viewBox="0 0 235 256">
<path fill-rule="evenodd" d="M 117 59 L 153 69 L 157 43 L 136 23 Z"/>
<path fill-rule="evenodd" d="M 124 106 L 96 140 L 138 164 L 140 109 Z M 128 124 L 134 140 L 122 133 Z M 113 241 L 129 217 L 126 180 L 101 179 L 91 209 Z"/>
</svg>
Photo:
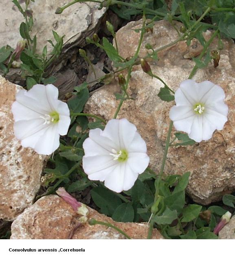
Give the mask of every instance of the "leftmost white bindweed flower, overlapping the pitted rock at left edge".
<svg viewBox="0 0 235 256">
<path fill-rule="evenodd" d="M 53 153 L 59 147 L 59 135 L 66 135 L 70 125 L 68 105 L 58 100 L 58 89 L 53 84 L 35 84 L 15 98 L 11 108 L 15 137 L 39 154 Z"/>
</svg>

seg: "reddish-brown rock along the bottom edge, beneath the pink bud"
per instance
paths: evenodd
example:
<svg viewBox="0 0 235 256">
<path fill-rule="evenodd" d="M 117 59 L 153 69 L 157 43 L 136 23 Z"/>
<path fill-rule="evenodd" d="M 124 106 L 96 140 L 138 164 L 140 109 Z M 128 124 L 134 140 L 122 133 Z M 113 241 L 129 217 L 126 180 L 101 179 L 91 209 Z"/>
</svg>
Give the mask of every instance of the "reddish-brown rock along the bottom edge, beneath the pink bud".
<svg viewBox="0 0 235 256">
<path fill-rule="evenodd" d="M 133 239 L 147 237 L 147 223 L 115 222 L 88 207 L 88 219 L 109 222 L 123 230 Z M 45 216 L 48 216 L 45 218 Z M 68 239 L 79 223 L 79 215 L 57 195 L 44 196 L 28 207 L 11 225 L 11 239 Z M 111 227 L 103 225 L 81 225 L 72 232 L 72 239 L 124 239 L 125 237 Z M 153 239 L 163 237 L 154 229 Z"/>
</svg>

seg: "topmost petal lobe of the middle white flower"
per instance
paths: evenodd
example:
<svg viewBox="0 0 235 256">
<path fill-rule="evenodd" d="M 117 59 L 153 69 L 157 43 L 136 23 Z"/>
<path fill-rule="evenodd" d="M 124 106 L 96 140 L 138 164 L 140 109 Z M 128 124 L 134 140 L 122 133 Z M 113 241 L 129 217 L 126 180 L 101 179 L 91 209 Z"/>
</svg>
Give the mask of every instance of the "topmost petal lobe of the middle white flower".
<svg viewBox="0 0 235 256">
<path fill-rule="evenodd" d="M 102 135 L 108 137 L 116 144 L 116 150 L 127 148 L 132 142 L 136 126 L 127 119 L 111 119 L 108 121 Z"/>
</svg>

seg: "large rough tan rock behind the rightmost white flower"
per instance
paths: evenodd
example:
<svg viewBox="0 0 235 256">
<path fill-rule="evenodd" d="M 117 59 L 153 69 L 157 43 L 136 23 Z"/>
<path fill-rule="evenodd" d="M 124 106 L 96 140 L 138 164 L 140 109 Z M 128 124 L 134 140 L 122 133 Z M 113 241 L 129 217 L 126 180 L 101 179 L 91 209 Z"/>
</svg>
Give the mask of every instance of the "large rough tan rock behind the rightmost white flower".
<svg viewBox="0 0 235 256">
<path fill-rule="evenodd" d="M 134 29 L 141 28 L 141 24 L 142 20 L 130 22 L 116 33 L 122 57 L 134 55 L 140 37 L 140 33 L 136 33 Z M 176 22 L 178 28 L 181 25 Z M 204 38 L 208 40 L 211 35 L 211 31 L 206 31 Z M 158 49 L 177 38 L 176 30 L 167 21 L 155 22 L 153 33 L 148 32 L 144 36 L 139 56 L 146 55 L 147 43 Z M 214 68 L 211 62 L 208 67 L 199 69 L 193 79 L 196 82 L 210 80 L 224 89 L 225 102 L 229 108 L 228 121 L 224 129 L 215 131 L 209 141 L 202 141 L 193 146 L 169 148 L 165 166 L 165 174 L 183 174 L 190 171 L 187 192 L 195 202 L 204 205 L 220 200 L 223 194 L 235 191 L 235 46 L 231 40 L 222 42 L 224 49 L 220 51 L 219 66 Z M 210 46 L 210 50 L 214 49 L 217 49 L 216 39 Z M 191 73 L 195 64 L 191 57 L 199 55 L 201 51 L 202 46 L 198 40 L 192 40 L 190 46 L 181 41 L 160 51 L 159 60 L 149 64 L 155 75 L 176 90 L 180 82 L 187 79 Z M 160 170 L 170 122 L 169 110 L 175 104 L 160 100 L 157 96 L 160 87 L 163 87 L 163 84 L 158 79 L 152 79 L 144 73 L 140 65 L 134 66 L 128 92 L 135 100 L 126 100 L 118 115 L 118 118 L 125 117 L 137 126 L 147 143 L 150 166 L 157 173 Z M 103 86 L 90 97 L 85 111 L 107 120 L 112 119 L 119 104 L 114 93 L 120 93 L 117 82 Z"/>
</svg>

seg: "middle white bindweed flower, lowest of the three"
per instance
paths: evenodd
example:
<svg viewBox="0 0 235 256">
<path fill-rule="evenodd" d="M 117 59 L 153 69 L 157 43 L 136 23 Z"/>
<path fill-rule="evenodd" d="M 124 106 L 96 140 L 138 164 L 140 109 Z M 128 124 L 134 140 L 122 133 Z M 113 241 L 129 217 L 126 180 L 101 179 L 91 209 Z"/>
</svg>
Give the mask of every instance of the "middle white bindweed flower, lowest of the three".
<svg viewBox="0 0 235 256">
<path fill-rule="evenodd" d="M 83 142 L 83 169 L 115 192 L 129 190 L 149 164 L 145 141 L 127 119 L 112 119 Z"/>
</svg>

